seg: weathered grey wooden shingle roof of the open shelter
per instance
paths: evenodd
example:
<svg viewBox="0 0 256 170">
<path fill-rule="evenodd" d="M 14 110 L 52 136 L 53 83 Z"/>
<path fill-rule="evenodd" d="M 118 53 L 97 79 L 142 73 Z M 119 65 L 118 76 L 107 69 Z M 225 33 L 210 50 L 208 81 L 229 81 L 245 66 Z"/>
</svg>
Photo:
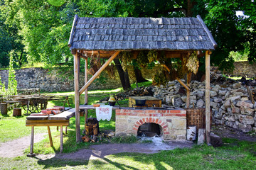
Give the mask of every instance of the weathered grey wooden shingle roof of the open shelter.
<svg viewBox="0 0 256 170">
<path fill-rule="evenodd" d="M 70 50 L 214 50 L 196 18 L 74 18 Z"/>
</svg>

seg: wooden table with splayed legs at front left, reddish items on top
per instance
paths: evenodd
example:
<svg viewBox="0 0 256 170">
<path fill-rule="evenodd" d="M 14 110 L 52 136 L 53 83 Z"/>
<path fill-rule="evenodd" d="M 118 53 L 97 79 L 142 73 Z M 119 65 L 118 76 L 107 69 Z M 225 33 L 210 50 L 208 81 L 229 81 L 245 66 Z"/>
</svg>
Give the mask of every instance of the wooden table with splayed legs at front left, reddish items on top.
<svg viewBox="0 0 256 170">
<path fill-rule="evenodd" d="M 28 157 L 34 157 L 33 154 L 33 137 L 35 126 L 47 126 L 50 139 L 50 146 L 53 147 L 53 140 L 50 133 L 50 126 L 60 126 L 60 153 L 63 152 L 63 126 L 69 125 L 69 119 L 75 115 L 75 108 L 65 108 L 63 113 L 57 115 L 30 115 L 26 119 L 26 126 L 31 126 L 31 148 Z"/>
</svg>

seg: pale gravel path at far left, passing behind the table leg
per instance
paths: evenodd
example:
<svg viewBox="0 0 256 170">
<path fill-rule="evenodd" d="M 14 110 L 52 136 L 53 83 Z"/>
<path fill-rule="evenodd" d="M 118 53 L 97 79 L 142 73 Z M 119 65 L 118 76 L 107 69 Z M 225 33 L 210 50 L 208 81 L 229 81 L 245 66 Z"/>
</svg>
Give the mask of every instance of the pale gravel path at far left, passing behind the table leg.
<svg viewBox="0 0 256 170">
<path fill-rule="evenodd" d="M 43 140 L 47 133 L 38 133 L 34 135 L 34 144 Z M 21 137 L 17 140 L 0 143 L 0 157 L 18 157 L 22 156 L 26 148 L 31 144 L 31 136 Z"/>
</svg>

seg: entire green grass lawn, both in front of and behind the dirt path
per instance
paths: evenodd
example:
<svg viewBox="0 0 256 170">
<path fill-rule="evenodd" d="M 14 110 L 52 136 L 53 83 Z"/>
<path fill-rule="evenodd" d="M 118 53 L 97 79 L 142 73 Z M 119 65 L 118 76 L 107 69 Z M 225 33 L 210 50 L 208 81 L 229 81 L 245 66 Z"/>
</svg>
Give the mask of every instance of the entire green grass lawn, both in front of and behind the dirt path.
<svg viewBox="0 0 256 170">
<path fill-rule="evenodd" d="M 89 91 L 89 104 L 95 103 L 119 90 Z M 54 93 L 58 95 L 73 95 L 73 92 Z M 102 96 L 104 94 L 105 96 Z M 51 94 L 52 95 L 52 94 Z M 70 98 L 72 103 L 72 98 Z M 122 101 L 127 106 L 128 101 Z M 50 101 L 48 107 L 62 106 L 63 101 Z M 73 106 L 73 103 L 71 105 Z M 95 118 L 95 111 L 89 111 L 89 117 Z M 9 112 L 8 116 L 0 115 L 0 142 L 14 140 L 18 137 L 28 136 L 31 128 L 25 126 L 26 116 L 14 118 Z M 100 130 L 114 130 L 114 114 L 110 121 L 100 120 Z M 80 117 L 80 128 L 84 130 L 85 119 Z M 36 132 L 47 132 L 46 127 L 36 127 Z M 60 151 L 60 132 L 51 127 L 53 145 L 50 147 L 48 135 L 46 139 L 34 145 L 34 153 L 49 154 Z M 81 132 L 82 133 L 82 132 Z M 75 118 L 70 119 L 68 134 L 64 135 L 63 152 L 75 152 L 87 148 L 92 143 L 75 142 Z M 135 142 L 136 139 L 114 138 L 112 142 Z M 0 169 L 255 169 L 256 145 L 255 142 L 245 142 L 223 139 L 223 147 L 195 146 L 191 149 L 174 149 L 156 154 L 122 153 L 112 154 L 104 159 L 38 159 L 25 155 L 16 158 L 0 158 Z M 29 148 L 26 149 L 29 152 Z"/>
</svg>

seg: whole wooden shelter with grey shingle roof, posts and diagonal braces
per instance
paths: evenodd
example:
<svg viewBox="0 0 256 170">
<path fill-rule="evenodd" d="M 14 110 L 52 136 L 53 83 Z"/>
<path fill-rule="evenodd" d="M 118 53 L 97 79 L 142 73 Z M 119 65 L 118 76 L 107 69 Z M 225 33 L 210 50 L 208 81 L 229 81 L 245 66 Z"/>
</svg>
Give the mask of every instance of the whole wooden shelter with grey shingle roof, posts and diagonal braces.
<svg viewBox="0 0 256 170">
<path fill-rule="evenodd" d="M 120 51 L 166 51 L 169 57 L 181 57 L 192 51 L 206 51 L 206 136 L 210 144 L 210 50 L 217 47 L 213 36 L 201 19 L 196 18 L 79 18 L 75 15 L 68 46 L 74 55 L 76 139 L 80 142 L 79 96 L 107 67 Z M 79 89 L 80 57 L 109 58 L 105 64 Z M 86 69 L 85 69 L 86 70 Z M 180 81 L 183 84 L 182 81 Z M 184 85 L 184 84 L 183 84 Z M 189 81 L 187 95 L 189 95 Z"/>
</svg>

